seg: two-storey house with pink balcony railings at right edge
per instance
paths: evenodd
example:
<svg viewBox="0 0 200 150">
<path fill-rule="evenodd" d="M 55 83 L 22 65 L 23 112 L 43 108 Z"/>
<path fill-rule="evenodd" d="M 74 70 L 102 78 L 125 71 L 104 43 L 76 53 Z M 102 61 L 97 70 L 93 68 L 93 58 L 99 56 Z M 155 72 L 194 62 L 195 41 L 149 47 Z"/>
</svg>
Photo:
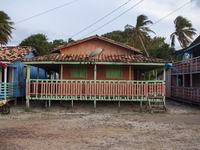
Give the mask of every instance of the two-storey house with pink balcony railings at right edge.
<svg viewBox="0 0 200 150">
<path fill-rule="evenodd" d="M 173 63 L 171 71 L 171 99 L 200 105 L 200 36 L 187 48 L 171 54 L 182 56 Z"/>
</svg>

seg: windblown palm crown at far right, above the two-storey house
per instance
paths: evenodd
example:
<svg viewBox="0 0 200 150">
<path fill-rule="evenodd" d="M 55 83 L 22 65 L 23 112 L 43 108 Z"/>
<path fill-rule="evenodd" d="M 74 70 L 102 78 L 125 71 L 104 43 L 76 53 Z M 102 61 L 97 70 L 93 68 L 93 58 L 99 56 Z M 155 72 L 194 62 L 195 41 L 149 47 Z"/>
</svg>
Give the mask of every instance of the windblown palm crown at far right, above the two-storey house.
<svg viewBox="0 0 200 150">
<path fill-rule="evenodd" d="M 175 32 L 170 35 L 171 38 L 171 46 L 175 46 L 175 36 L 177 36 L 178 42 L 182 48 L 186 48 L 190 43 L 190 39 L 193 39 L 192 36 L 195 35 L 196 29 L 192 28 L 192 23 L 183 18 L 182 16 L 178 16 L 174 20 L 175 24 Z"/>
</svg>

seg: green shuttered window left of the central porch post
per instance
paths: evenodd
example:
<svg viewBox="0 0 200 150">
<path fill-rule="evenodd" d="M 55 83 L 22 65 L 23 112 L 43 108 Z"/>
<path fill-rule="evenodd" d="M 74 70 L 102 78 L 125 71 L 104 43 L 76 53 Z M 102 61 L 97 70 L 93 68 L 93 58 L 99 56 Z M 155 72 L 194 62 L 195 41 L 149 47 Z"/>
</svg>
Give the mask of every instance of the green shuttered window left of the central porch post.
<svg viewBox="0 0 200 150">
<path fill-rule="evenodd" d="M 71 78 L 87 78 L 87 65 L 71 65 Z"/>
</svg>

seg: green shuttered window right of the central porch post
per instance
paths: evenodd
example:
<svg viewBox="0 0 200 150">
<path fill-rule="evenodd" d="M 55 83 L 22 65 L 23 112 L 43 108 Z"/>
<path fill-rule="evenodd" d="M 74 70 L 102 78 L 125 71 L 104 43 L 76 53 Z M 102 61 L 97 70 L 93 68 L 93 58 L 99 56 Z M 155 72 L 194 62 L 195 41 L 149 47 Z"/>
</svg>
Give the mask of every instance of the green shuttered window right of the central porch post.
<svg viewBox="0 0 200 150">
<path fill-rule="evenodd" d="M 106 78 L 122 78 L 122 66 L 107 65 Z"/>
</svg>

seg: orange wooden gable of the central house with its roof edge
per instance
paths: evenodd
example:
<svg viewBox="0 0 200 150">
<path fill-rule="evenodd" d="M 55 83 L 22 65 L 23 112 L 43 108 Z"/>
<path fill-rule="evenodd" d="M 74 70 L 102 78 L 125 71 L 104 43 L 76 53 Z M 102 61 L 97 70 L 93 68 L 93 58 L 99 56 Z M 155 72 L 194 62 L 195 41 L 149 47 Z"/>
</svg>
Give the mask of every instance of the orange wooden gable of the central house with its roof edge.
<svg viewBox="0 0 200 150">
<path fill-rule="evenodd" d="M 102 54 L 104 55 L 130 55 L 142 53 L 139 49 L 98 35 L 61 45 L 51 50 L 51 52 L 62 54 L 89 54 L 97 48 L 103 48 L 104 51 Z"/>
</svg>

